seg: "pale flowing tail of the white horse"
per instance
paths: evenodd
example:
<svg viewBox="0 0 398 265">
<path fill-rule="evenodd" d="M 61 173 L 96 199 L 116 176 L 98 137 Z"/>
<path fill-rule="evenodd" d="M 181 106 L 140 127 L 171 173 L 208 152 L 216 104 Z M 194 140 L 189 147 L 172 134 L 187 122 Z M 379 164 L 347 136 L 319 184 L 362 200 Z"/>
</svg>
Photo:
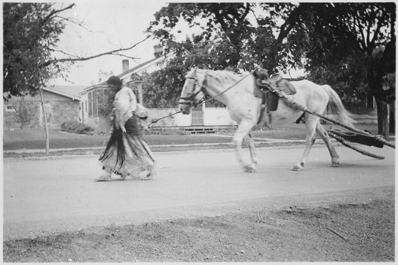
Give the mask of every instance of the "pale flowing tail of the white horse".
<svg viewBox="0 0 398 265">
<path fill-rule="evenodd" d="M 327 109 L 332 112 L 332 115 L 337 119 L 337 121 L 347 126 L 354 127 L 354 123 L 356 123 L 356 121 L 353 119 L 352 113 L 345 109 L 341 102 L 341 98 L 336 91 L 328 85 L 323 85 L 322 88 L 329 95 Z"/>
</svg>

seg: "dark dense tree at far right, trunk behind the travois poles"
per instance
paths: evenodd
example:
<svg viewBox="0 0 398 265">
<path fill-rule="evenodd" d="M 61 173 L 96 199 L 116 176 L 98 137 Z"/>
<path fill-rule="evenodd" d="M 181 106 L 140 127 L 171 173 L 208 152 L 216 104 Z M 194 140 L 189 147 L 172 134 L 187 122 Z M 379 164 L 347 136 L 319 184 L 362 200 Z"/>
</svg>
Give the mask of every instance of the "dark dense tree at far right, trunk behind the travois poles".
<svg viewBox="0 0 398 265">
<path fill-rule="evenodd" d="M 358 92 L 373 95 L 379 134 L 388 138 L 387 104 L 395 100 L 395 85 L 385 80 L 395 84 L 395 3 L 317 3 L 301 19 L 311 32 L 306 53 L 311 77 L 326 77 L 351 100 Z"/>
</svg>

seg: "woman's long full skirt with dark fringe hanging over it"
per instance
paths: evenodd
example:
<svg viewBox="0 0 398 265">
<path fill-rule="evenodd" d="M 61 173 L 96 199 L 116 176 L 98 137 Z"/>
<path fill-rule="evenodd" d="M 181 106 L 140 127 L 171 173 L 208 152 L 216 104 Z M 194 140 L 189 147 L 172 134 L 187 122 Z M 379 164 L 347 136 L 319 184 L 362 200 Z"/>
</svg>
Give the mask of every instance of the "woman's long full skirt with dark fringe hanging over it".
<svg viewBox="0 0 398 265">
<path fill-rule="evenodd" d="M 128 119 L 124 127 L 126 133 L 113 123 L 113 132 L 99 159 L 102 169 L 122 177 L 145 178 L 148 174 L 153 176 L 155 159 L 148 144 L 141 137 L 137 118 L 133 116 Z"/>
</svg>

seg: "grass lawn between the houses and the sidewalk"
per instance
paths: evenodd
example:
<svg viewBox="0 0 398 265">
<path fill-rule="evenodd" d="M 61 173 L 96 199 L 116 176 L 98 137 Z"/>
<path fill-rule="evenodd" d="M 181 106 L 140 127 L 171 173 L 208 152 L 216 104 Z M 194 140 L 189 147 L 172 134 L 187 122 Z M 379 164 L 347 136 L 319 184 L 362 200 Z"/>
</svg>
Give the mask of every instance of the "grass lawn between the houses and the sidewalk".
<svg viewBox="0 0 398 265">
<path fill-rule="evenodd" d="M 325 125 L 329 128 L 330 125 Z M 357 125 L 358 129 L 377 132 L 377 125 Z M 180 145 L 198 143 L 230 143 L 233 132 L 222 132 L 224 136 L 219 137 L 215 134 L 192 134 L 192 135 L 143 135 L 149 145 Z M 255 138 L 273 139 L 305 139 L 304 124 L 290 124 L 284 127 L 274 127 L 270 130 L 253 131 Z M 105 141 L 104 135 L 81 135 L 50 130 L 50 149 L 52 148 L 94 148 L 102 147 Z M 44 130 L 4 130 L 3 150 L 17 149 L 45 149 Z"/>
</svg>

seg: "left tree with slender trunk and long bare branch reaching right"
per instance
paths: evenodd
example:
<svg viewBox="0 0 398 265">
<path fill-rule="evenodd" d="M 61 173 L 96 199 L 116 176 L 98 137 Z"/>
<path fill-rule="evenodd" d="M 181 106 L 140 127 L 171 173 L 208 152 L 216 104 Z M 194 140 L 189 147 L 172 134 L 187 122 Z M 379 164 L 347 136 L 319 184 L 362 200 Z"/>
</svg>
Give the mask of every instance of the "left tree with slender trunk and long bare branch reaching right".
<svg viewBox="0 0 398 265">
<path fill-rule="evenodd" d="M 3 3 L 3 100 L 6 101 L 11 96 L 39 94 L 44 115 L 42 88 L 50 79 L 62 76 L 62 70 L 75 62 L 103 55 L 122 55 L 122 52 L 138 44 L 87 57 L 72 56 L 59 51 L 58 36 L 66 24 L 82 25 L 82 22 L 62 15 L 64 11 L 73 8 L 74 3 L 65 7 L 62 5 L 56 8 L 57 6 L 55 3 Z M 66 57 L 57 58 L 54 55 L 56 52 Z M 47 117 L 44 120 L 48 155 Z"/>
</svg>

